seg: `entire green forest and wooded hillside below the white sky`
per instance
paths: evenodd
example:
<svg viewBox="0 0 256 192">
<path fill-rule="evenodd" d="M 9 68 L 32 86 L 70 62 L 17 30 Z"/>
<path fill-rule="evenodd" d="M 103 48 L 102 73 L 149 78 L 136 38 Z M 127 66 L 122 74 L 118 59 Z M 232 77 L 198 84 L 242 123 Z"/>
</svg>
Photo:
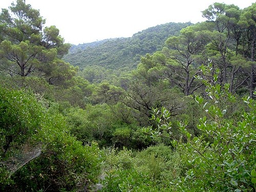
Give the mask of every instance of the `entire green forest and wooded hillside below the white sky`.
<svg viewBox="0 0 256 192">
<path fill-rule="evenodd" d="M 0 12 L 0 191 L 256 191 L 256 4 L 66 44 Z"/>
</svg>

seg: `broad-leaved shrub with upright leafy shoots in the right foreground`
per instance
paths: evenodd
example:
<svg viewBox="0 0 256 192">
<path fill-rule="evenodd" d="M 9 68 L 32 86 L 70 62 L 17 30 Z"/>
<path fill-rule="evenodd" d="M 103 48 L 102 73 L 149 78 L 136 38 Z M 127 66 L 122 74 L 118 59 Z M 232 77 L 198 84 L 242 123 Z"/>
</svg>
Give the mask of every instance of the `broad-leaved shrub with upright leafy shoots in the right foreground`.
<svg viewBox="0 0 256 192">
<path fill-rule="evenodd" d="M 202 69 L 204 73 L 206 69 Z M 251 176 L 256 156 L 255 102 L 245 98 L 250 111 L 242 114 L 242 120 L 229 120 L 225 118 L 227 105 L 218 105 L 223 99 L 234 100 L 234 96 L 228 92 L 228 86 L 221 90 L 219 84 L 212 85 L 206 81 L 206 92 L 212 104 L 205 102 L 202 97 L 196 97 L 207 115 L 197 125 L 201 135 L 192 138 L 186 130 L 186 124 L 179 123 L 180 133 L 186 142 L 182 142 L 182 137 L 173 141 L 180 151 L 184 166 L 184 176 L 177 179 L 175 187 L 191 191 L 255 190 Z M 163 109 L 161 114 L 160 118 L 155 118 L 159 128 L 171 129 L 170 122 L 164 122 L 168 120 L 169 112 Z"/>
</svg>

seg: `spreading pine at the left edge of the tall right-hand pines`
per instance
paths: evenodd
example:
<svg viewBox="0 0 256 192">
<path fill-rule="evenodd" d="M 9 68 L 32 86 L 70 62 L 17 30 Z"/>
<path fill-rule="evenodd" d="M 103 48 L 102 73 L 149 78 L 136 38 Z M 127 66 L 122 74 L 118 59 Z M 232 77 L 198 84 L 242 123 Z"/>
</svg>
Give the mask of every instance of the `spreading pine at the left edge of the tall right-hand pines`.
<svg viewBox="0 0 256 192">
<path fill-rule="evenodd" d="M 188 96 L 193 94 L 202 86 L 202 82 L 195 78 L 200 73 L 198 66 L 201 64 L 202 53 L 207 44 L 204 38 L 205 31 L 196 31 L 193 26 L 186 27 L 180 31 L 179 36 L 172 36 L 166 40 L 169 48 L 165 49 L 168 57 L 167 65 L 170 82 L 178 86 Z M 167 52 L 167 53 L 166 53 Z"/>
</svg>

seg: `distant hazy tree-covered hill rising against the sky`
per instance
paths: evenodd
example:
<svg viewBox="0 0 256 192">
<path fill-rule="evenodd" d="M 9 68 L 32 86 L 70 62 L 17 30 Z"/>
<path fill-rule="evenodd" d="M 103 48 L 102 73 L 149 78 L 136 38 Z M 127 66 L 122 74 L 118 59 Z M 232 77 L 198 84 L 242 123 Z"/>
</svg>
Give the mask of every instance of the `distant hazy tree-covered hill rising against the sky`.
<svg viewBox="0 0 256 192">
<path fill-rule="evenodd" d="M 105 39 L 72 46 L 63 59 L 80 70 L 87 66 L 102 66 L 108 69 L 134 69 L 136 61 L 146 53 L 161 50 L 165 40 L 176 35 L 191 23 L 167 23 L 145 29 L 128 38 Z"/>
</svg>

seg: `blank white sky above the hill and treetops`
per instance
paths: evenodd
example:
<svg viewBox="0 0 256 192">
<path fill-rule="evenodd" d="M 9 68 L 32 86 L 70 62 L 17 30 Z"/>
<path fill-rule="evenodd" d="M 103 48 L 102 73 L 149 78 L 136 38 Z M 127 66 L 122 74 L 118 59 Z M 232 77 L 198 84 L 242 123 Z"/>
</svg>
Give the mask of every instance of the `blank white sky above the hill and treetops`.
<svg viewBox="0 0 256 192">
<path fill-rule="evenodd" d="M 0 0 L 8 8 L 16 0 Z M 220 2 L 245 8 L 253 0 L 26 0 L 39 9 L 45 26 L 55 25 L 65 42 L 82 44 L 134 33 L 170 22 L 197 23 L 201 11 Z"/>
</svg>

